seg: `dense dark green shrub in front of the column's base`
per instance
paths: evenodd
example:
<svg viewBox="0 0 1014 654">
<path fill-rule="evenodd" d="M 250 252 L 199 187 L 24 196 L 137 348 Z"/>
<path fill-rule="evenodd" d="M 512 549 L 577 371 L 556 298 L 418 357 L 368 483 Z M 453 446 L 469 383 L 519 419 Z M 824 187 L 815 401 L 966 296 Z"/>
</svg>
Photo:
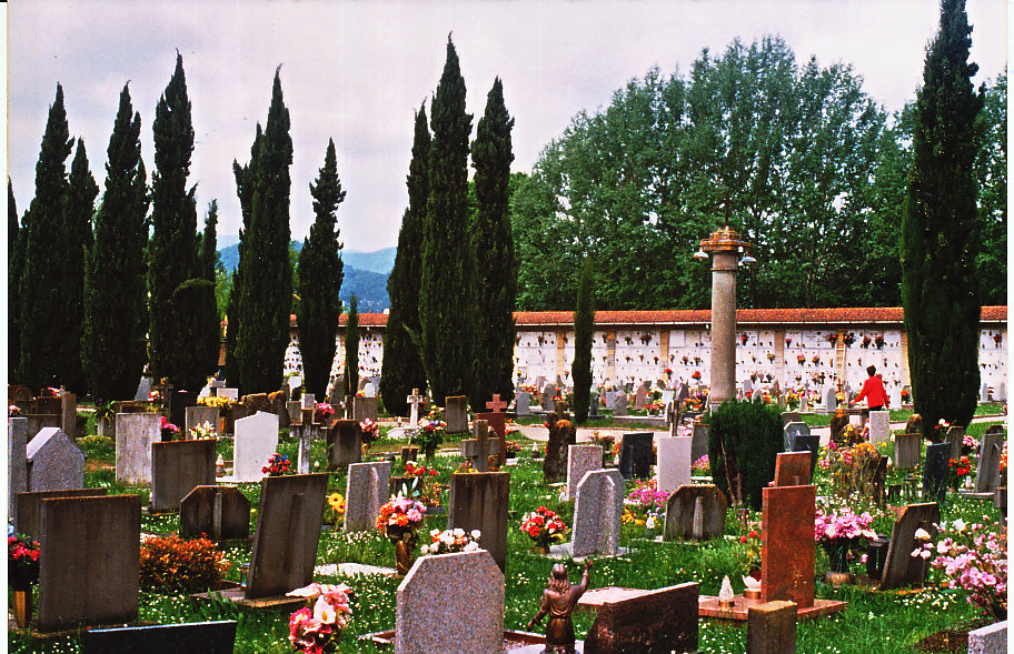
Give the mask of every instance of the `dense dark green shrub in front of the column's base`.
<svg viewBox="0 0 1014 654">
<path fill-rule="evenodd" d="M 776 405 L 725 402 L 710 415 L 712 479 L 737 506 L 760 509 L 760 490 L 775 479 L 782 451 L 782 414 Z M 732 487 L 729 485 L 732 484 Z"/>
</svg>

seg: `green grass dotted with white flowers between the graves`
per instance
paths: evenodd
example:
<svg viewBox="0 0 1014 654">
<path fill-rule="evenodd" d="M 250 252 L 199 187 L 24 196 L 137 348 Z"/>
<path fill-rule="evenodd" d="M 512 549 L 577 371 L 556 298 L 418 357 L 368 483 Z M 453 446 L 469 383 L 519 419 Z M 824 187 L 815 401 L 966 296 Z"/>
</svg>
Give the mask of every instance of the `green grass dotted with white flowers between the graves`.
<svg viewBox="0 0 1014 654">
<path fill-rule="evenodd" d="M 985 425 L 973 425 L 970 433 L 978 434 Z M 459 439 L 457 439 L 459 440 Z M 559 513 L 568 525 L 573 525 L 574 503 L 560 502 L 557 489 L 549 489 L 543 483 L 541 462 L 533 461 L 527 452 L 531 442 L 524 436 L 517 439 L 521 444 L 521 457 L 517 465 L 506 467 L 511 472 L 510 481 L 510 532 L 508 535 L 507 587 L 505 626 L 524 630 L 528 620 L 535 615 L 538 600 L 548 580 L 551 563 L 544 557 L 530 554 L 527 536 L 517 529 L 521 515 L 545 505 Z M 382 451 L 398 451 L 400 442 L 381 439 L 374 445 L 371 457 L 379 457 Z M 138 493 L 142 504 L 148 502 L 148 490 L 118 484 L 115 481 L 115 452 L 111 444 L 87 444 L 88 467 L 87 486 L 107 487 L 110 493 Z M 231 444 L 220 441 L 219 450 L 226 459 L 231 456 Z M 290 459 L 296 456 L 296 442 L 285 437 L 279 450 Z M 885 446 L 886 450 L 886 446 Z M 324 467 L 325 452 L 322 442 L 315 442 L 311 461 Z M 458 456 L 438 456 L 436 467 L 441 483 L 449 481 L 451 472 L 460 463 Z M 916 473 L 917 474 L 917 473 Z M 892 471 L 888 482 L 897 482 L 903 473 Z M 818 495 L 829 493 L 829 480 L 824 471 L 817 472 Z M 345 475 L 332 474 L 329 486 L 345 493 Z M 241 484 L 240 489 L 250 499 L 255 507 L 251 516 L 251 533 L 256 524 L 256 507 L 259 499 L 259 484 Z M 633 483 L 628 484 L 628 491 Z M 444 493 L 444 503 L 447 493 Z M 952 500 L 943 507 L 944 520 L 962 517 L 966 522 L 995 524 L 1002 517 L 992 502 Z M 752 519 L 759 522 L 759 512 Z M 875 523 L 879 533 L 889 533 L 892 520 L 881 514 Z M 152 533 L 171 533 L 178 529 L 176 516 L 142 516 L 141 530 Z M 644 526 L 633 523 L 624 525 L 620 545 L 629 551 L 615 559 L 598 560 L 593 569 L 592 587 L 626 586 L 655 588 L 683 582 L 698 582 L 703 594 L 718 593 L 722 580 L 729 575 L 734 587 L 742 590 L 738 581 L 742 572 L 742 556 L 738 544 L 738 521 L 735 510 L 729 510 L 726 521 L 727 539 L 718 539 L 703 545 L 677 543 L 655 543 L 644 540 Z M 444 529 L 446 516 L 427 517 L 424 534 L 431 529 Z M 226 557 L 232 563 L 226 574 L 228 580 L 239 581 L 239 565 L 250 557 L 250 546 L 229 545 L 225 549 Z M 359 562 L 371 565 L 394 567 L 394 547 L 376 532 L 345 534 L 340 531 L 328 531 L 321 534 L 318 547 L 318 564 Z M 862 572 L 858 562 L 854 563 L 855 572 Z M 578 565 L 571 567 L 571 581 L 578 576 Z M 980 611 L 966 601 L 964 591 L 952 591 L 940 587 L 935 575 L 931 576 L 927 587 L 918 592 L 871 593 L 855 586 L 834 588 L 822 581 L 828 570 L 826 555 L 817 549 L 816 594 L 818 597 L 842 600 L 848 608 L 833 618 L 822 618 L 799 623 L 797 651 L 802 653 L 869 654 L 873 652 L 914 652 L 913 644 L 919 638 L 943 628 L 952 627 L 980 617 Z M 335 577 L 318 577 L 316 581 L 337 582 Z M 390 630 L 395 626 L 395 600 L 398 580 L 382 576 L 358 576 L 340 580 L 348 583 L 357 595 L 354 606 L 354 618 L 346 632 L 340 652 L 376 652 L 372 645 L 360 643 L 357 636 L 376 631 Z M 288 613 L 240 612 L 230 604 L 192 605 L 182 594 L 160 594 L 142 592 L 140 595 L 140 620 L 153 623 L 181 623 L 207 620 L 235 618 L 239 621 L 236 640 L 237 653 L 286 653 L 292 647 L 288 641 Z M 592 616 L 586 613 L 575 614 L 578 637 L 583 637 L 590 626 Z M 730 626 L 713 621 L 700 621 L 700 652 L 740 654 L 745 651 L 745 626 Z M 9 634 L 8 644 L 11 652 L 77 652 L 77 642 L 72 636 L 64 636 L 46 642 Z"/>
</svg>

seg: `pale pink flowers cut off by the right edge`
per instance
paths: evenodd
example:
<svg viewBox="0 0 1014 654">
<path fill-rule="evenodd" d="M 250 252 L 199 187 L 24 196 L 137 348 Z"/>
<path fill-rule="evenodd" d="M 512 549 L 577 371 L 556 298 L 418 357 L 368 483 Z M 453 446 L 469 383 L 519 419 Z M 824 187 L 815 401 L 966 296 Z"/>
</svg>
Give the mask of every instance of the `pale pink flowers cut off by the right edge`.
<svg viewBox="0 0 1014 654">
<path fill-rule="evenodd" d="M 933 557 L 931 569 L 941 573 L 941 585 L 967 591 L 968 603 L 994 620 L 1007 618 L 1007 527 L 966 525 L 955 520 L 940 525 L 941 541 L 934 547 L 925 530 L 916 532 L 922 543 L 912 556 Z M 935 556 L 934 556 L 935 555 Z"/>
</svg>

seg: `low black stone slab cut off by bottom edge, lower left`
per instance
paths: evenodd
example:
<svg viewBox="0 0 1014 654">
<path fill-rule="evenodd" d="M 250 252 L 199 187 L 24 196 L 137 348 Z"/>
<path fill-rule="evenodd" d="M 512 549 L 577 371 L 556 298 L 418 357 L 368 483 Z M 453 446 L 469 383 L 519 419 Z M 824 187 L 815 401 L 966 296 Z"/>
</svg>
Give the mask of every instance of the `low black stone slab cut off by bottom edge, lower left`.
<svg viewBox="0 0 1014 654">
<path fill-rule="evenodd" d="M 81 654 L 232 654 L 235 645 L 235 620 L 84 630 L 81 633 Z"/>
</svg>

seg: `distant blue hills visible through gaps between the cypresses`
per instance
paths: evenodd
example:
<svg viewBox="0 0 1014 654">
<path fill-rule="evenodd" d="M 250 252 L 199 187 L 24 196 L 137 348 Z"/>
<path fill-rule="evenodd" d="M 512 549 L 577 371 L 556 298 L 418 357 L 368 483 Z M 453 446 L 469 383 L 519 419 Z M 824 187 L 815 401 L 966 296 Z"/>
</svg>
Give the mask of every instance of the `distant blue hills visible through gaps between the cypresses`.
<svg viewBox="0 0 1014 654">
<path fill-rule="evenodd" d="M 239 264 L 239 238 L 225 234 L 218 237 L 218 253 L 222 265 L 232 272 Z M 302 241 L 292 241 L 292 246 L 298 252 L 302 250 Z M 381 313 L 390 308 L 387 296 L 387 278 L 395 265 L 397 248 L 385 248 L 376 252 L 341 252 L 345 262 L 345 279 L 338 296 L 348 303 L 352 293 L 359 301 L 359 313 Z"/>
</svg>

